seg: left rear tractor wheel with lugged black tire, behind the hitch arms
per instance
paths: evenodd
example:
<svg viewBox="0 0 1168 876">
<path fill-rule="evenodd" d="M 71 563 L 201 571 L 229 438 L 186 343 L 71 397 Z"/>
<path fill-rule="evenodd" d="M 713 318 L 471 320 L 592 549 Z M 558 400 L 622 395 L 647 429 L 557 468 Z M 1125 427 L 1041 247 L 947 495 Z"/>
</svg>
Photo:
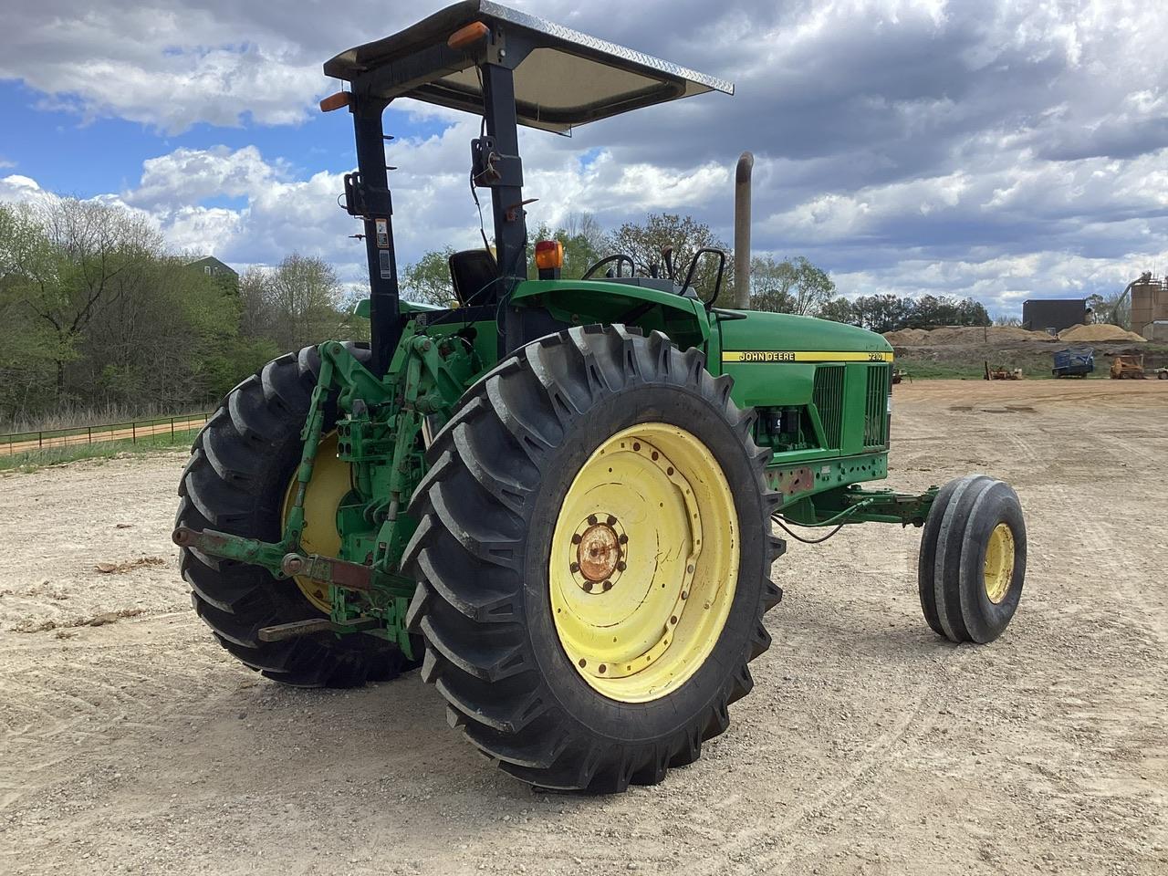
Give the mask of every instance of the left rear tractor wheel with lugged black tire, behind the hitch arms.
<svg viewBox="0 0 1168 876">
<path fill-rule="evenodd" d="M 357 359 L 369 352 L 349 346 Z M 288 487 L 303 443 L 300 429 L 320 373 L 315 347 L 269 362 L 232 389 L 195 438 L 179 486 L 176 526 L 217 529 L 276 542 L 283 535 Z M 329 399 L 325 433 L 336 420 Z M 335 439 L 331 439 L 335 442 Z M 348 466 L 322 442 L 305 501 L 304 543 L 335 554 L 336 501 L 348 492 Z M 310 544 L 310 536 L 320 543 Z M 327 542 L 335 540 L 335 545 Z M 199 617 L 218 642 L 263 675 L 297 687 L 354 687 L 383 681 L 408 668 L 402 652 L 373 635 L 332 633 L 265 642 L 265 626 L 328 617 L 327 592 L 297 580 L 278 580 L 267 570 L 217 559 L 190 548 L 180 556 Z"/>
</svg>

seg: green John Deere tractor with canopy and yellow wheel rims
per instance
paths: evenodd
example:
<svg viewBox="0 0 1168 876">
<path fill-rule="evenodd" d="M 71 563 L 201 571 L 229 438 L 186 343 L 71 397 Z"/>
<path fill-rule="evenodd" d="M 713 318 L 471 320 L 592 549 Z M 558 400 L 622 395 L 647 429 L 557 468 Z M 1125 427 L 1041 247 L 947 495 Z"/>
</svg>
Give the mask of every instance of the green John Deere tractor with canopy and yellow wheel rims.
<svg viewBox="0 0 1168 876">
<path fill-rule="evenodd" d="M 267 363 L 195 439 L 174 541 L 231 654 L 296 686 L 420 666 L 508 773 L 617 792 L 694 762 L 753 686 L 781 597 L 776 526 L 923 527 L 932 630 L 1002 632 L 1026 566 L 1014 491 L 860 486 L 888 473 L 883 338 L 714 306 L 719 251 L 684 278 L 614 253 L 577 280 L 540 242 L 527 277 L 517 125 L 565 132 L 732 85 L 487 0 L 325 72 L 350 83 L 321 109 L 355 127 L 345 204 L 364 223 L 371 341 Z M 397 97 L 484 117 L 471 181 L 491 192 L 494 246 L 451 257 L 446 308 L 398 298 L 382 128 Z"/>
</svg>

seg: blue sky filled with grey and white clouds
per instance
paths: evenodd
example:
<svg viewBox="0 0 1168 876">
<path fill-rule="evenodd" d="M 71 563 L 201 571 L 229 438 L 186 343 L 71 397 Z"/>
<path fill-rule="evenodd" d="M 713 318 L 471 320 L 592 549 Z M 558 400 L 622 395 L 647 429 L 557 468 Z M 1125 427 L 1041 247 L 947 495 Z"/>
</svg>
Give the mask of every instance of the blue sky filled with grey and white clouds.
<svg viewBox="0 0 1168 876">
<path fill-rule="evenodd" d="M 0 200 L 103 197 L 236 266 L 291 250 L 348 280 L 354 165 L 321 63 L 443 6 L 9 0 Z M 735 82 L 578 128 L 521 133 L 529 224 L 690 213 L 732 239 L 756 155 L 756 251 L 806 255 L 846 294 L 1113 293 L 1168 267 L 1168 6 L 1124 0 L 513 0 Z M 126 8 L 116 8 L 124 6 Z M 395 104 L 399 257 L 473 245 L 477 118 Z"/>
</svg>

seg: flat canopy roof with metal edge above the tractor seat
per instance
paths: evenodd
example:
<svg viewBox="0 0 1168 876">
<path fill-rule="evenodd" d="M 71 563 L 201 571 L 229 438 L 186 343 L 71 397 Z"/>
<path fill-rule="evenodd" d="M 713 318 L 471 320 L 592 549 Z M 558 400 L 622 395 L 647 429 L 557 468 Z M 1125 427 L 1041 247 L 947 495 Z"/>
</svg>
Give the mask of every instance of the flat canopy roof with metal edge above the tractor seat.
<svg viewBox="0 0 1168 876">
<path fill-rule="evenodd" d="M 464 27 L 489 28 L 485 51 L 510 56 L 517 121 L 565 133 L 577 125 L 642 106 L 701 95 L 734 93 L 734 84 L 623 46 L 588 36 L 489 0 L 447 6 L 417 25 L 342 51 L 325 74 L 369 97 L 412 97 L 482 113 L 474 53 L 447 40 Z"/>
</svg>

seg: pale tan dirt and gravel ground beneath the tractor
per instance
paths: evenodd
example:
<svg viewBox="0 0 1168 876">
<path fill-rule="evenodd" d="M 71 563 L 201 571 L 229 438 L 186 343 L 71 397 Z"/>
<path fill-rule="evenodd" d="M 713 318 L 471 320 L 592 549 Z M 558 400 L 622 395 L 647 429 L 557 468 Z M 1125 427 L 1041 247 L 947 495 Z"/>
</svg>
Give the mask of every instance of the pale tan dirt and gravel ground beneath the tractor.
<svg viewBox="0 0 1168 876">
<path fill-rule="evenodd" d="M 235 663 L 175 569 L 182 464 L 0 478 L 0 872 L 1168 872 L 1168 382 L 897 387 L 892 484 L 1017 488 L 1010 628 L 927 630 L 917 530 L 792 544 L 729 732 L 610 798 L 508 779 L 416 675 Z"/>
</svg>

